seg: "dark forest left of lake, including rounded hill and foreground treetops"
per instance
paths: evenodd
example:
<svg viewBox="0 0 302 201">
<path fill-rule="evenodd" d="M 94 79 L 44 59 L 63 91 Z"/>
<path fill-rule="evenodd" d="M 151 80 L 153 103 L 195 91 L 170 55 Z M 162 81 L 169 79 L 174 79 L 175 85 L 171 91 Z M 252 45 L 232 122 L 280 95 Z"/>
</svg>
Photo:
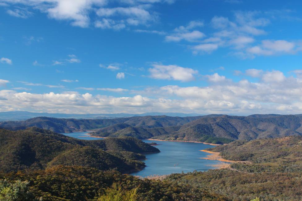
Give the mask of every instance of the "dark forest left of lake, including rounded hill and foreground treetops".
<svg viewBox="0 0 302 201">
<path fill-rule="evenodd" d="M 36 127 L 0 129 L 0 200 L 104 200 L 114 189 L 125 191 L 125 200 L 127 192 L 146 201 L 227 200 L 189 185 L 122 174 L 142 168 L 142 153 L 150 152 L 159 150 L 131 137 L 86 141 Z"/>
</svg>

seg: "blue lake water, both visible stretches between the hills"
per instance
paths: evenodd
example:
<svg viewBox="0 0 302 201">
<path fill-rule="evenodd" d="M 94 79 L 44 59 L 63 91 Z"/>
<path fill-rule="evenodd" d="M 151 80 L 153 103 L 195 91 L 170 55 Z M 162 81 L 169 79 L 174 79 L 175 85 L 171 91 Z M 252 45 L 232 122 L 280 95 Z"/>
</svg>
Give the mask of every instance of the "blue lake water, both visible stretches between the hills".
<svg viewBox="0 0 302 201">
<path fill-rule="evenodd" d="M 63 133 L 64 135 L 77 139 L 98 140 L 102 138 L 89 137 L 88 132 Z M 206 171 L 214 169 L 220 161 L 201 159 L 209 155 L 199 150 L 214 147 L 213 145 L 190 142 L 168 142 L 143 140 L 146 143 L 156 142 L 161 152 L 154 154 L 145 154 L 147 160 L 144 160 L 147 167 L 143 170 L 132 173 L 136 176 L 165 175 L 171 173 L 184 173 L 197 171 Z"/>
</svg>

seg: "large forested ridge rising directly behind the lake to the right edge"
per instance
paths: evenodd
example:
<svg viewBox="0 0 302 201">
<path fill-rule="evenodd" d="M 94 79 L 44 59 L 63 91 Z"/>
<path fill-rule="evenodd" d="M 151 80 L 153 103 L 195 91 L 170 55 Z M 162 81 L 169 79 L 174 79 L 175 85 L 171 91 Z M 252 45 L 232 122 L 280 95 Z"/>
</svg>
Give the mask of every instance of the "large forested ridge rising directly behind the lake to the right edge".
<svg viewBox="0 0 302 201">
<path fill-rule="evenodd" d="M 96 130 L 102 137 L 133 136 L 163 140 L 188 140 L 208 143 L 229 143 L 232 140 L 252 140 L 302 135 L 301 115 L 256 114 L 243 116 L 202 116 L 182 126 L 143 128 L 114 124 Z"/>
</svg>

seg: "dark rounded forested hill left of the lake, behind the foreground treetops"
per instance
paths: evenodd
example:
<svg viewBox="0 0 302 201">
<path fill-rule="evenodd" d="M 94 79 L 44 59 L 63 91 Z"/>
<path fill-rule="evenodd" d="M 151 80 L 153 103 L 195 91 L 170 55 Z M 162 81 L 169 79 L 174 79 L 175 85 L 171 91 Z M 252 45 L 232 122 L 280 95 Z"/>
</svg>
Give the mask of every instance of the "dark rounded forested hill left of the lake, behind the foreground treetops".
<svg viewBox="0 0 302 201">
<path fill-rule="evenodd" d="M 99 170 L 127 172 L 145 166 L 140 153 L 159 150 L 139 139 L 125 137 L 85 141 L 49 130 L 0 129 L 0 171 L 47 169 L 54 165 L 76 165 Z"/>
</svg>

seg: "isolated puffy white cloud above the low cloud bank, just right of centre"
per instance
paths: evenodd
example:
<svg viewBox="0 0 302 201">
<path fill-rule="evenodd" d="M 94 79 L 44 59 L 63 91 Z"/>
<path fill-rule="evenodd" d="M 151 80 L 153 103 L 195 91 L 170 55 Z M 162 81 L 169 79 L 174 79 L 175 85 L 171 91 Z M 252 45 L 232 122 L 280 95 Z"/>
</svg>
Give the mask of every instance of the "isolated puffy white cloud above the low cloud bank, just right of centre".
<svg viewBox="0 0 302 201">
<path fill-rule="evenodd" d="M 159 65 L 153 64 L 153 68 L 149 68 L 150 77 L 154 79 L 173 79 L 182 82 L 194 80 L 194 74 L 198 71 L 192 68 L 184 68 L 176 65 Z"/>
</svg>

